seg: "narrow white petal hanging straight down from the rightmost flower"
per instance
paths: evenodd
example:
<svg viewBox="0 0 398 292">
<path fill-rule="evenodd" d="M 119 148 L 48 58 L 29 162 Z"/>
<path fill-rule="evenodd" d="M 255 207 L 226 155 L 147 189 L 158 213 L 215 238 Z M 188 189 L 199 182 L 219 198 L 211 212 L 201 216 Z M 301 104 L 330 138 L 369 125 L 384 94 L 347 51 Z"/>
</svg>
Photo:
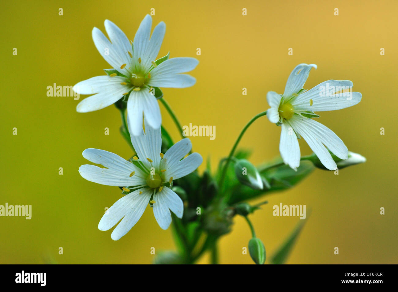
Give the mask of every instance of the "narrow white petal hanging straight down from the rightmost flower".
<svg viewBox="0 0 398 292">
<path fill-rule="evenodd" d="M 300 166 L 300 146 L 298 146 L 297 136 L 293 128 L 287 122 L 283 122 L 281 125 L 279 151 L 283 162 L 297 170 L 297 167 Z"/>
</svg>

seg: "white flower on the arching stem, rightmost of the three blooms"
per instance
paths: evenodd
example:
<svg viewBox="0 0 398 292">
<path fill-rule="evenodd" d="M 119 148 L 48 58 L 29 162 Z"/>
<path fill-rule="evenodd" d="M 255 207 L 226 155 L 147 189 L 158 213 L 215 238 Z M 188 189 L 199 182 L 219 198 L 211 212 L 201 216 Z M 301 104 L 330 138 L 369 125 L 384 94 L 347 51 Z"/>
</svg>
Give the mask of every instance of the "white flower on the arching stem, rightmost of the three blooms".
<svg viewBox="0 0 398 292">
<path fill-rule="evenodd" d="M 283 95 L 270 91 L 267 102 L 271 108 L 267 111 L 270 122 L 281 125 L 279 151 L 283 162 L 292 169 L 300 165 L 300 147 L 297 138 L 300 135 L 318 156 L 322 164 L 330 170 L 337 168 L 328 147 L 340 159 L 348 158 L 348 149 L 343 141 L 328 127 L 312 118 L 314 112 L 341 110 L 361 101 L 362 94 L 352 92 L 353 83 L 349 80 L 328 80 L 304 91 L 302 87 L 314 64 L 300 64 L 290 74 Z M 341 91 L 347 90 L 341 94 Z M 349 92 L 351 90 L 351 92 Z"/>
</svg>

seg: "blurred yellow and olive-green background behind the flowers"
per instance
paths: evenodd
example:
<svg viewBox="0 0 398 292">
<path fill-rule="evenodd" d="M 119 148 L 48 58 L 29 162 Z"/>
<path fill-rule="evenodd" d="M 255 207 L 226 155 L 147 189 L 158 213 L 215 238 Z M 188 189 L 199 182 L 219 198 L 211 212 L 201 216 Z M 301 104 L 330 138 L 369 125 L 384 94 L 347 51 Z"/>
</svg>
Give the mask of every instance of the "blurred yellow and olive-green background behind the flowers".
<svg viewBox="0 0 398 292">
<path fill-rule="evenodd" d="M 197 78 L 195 86 L 163 92 L 182 125 L 216 126 L 215 140 L 191 138 L 193 150 L 204 159 L 210 156 L 213 169 L 250 118 L 267 110 L 267 91 L 283 93 L 299 63 L 318 65 L 307 89 L 329 79 L 353 81 L 354 91 L 363 95 L 361 103 L 322 112 L 318 121 L 367 163 L 339 175 L 316 170 L 297 187 L 267 196 L 269 204 L 251 218 L 268 260 L 299 221 L 272 216 L 272 206 L 282 202 L 312 209 L 287 263 L 397 263 L 398 3 L 369 0 L 2 2 L 0 205 L 32 205 L 32 218 L 0 217 L 0 263 L 151 263 L 151 247 L 175 249 L 171 229 L 160 229 L 149 207 L 119 241 L 111 240 L 111 231 L 98 230 L 104 208 L 121 194 L 84 180 L 78 168 L 88 163 L 81 154 L 86 148 L 130 157 L 119 133 L 119 112 L 109 106 L 79 114 L 76 105 L 87 96 L 47 97 L 47 86 L 74 85 L 110 67 L 92 41 L 94 26 L 105 32 L 103 22 L 109 19 L 133 39 L 151 8 L 152 28 L 166 23 L 159 56 L 170 50 L 170 57 L 200 61 L 189 73 Z M 172 120 L 160 108 L 163 125 L 178 140 Z M 14 127 L 18 135 L 12 134 Z M 250 160 L 260 164 L 279 155 L 279 135 L 280 128 L 263 117 L 240 147 L 252 149 Z M 305 141 L 300 147 L 302 155 L 311 153 Z M 234 222 L 232 233 L 220 241 L 220 263 L 252 263 L 242 255 L 250 230 L 242 217 Z M 208 255 L 199 263 L 208 263 Z"/>
</svg>

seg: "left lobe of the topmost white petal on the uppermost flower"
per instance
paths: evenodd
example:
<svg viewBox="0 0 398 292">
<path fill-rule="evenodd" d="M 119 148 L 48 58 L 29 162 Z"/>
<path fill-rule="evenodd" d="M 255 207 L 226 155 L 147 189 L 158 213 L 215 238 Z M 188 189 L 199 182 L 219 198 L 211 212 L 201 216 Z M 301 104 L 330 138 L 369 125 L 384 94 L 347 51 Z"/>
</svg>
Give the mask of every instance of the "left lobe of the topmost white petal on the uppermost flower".
<svg viewBox="0 0 398 292">
<path fill-rule="evenodd" d="M 135 63 L 138 64 L 138 59 L 141 59 L 141 66 L 144 67 L 147 62 L 147 52 L 149 49 L 149 37 L 150 37 L 150 29 L 152 27 L 152 18 L 149 14 L 146 14 L 144 19 L 142 20 L 140 27 L 137 30 L 137 33 L 134 37 L 134 53 L 133 58 L 135 59 Z M 149 63 L 155 60 L 149 60 Z M 142 63 L 144 62 L 144 63 Z M 148 69 L 144 67 L 144 69 Z M 152 74 L 152 73 L 151 73 Z"/>
</svg>

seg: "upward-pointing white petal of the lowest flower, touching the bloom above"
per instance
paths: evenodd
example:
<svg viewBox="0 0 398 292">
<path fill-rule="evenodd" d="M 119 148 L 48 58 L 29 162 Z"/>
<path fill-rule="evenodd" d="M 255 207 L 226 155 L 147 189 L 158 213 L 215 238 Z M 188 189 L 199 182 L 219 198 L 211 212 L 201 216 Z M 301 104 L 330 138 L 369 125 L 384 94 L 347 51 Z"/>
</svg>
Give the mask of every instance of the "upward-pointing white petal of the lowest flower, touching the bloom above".
<svg viewBox="0 0 398 292">
<path fill-rule="evenodd" d="M 144 123 L 145 133 L 142 131 L 141 134 L 137 136 L 131 134 L 131 143 L 141 162 L 148 169 L 155 167 L 155 169 L 158 170 L 157 168 L 161 159 L 160 152 L 162 151 L 162 133 L 160 127 L 158 129 L 152 128 L 146 118 L 144 119 Z M 152 160 L 152 163 L 150 163 L 147 158 Z"/>
</svg>

